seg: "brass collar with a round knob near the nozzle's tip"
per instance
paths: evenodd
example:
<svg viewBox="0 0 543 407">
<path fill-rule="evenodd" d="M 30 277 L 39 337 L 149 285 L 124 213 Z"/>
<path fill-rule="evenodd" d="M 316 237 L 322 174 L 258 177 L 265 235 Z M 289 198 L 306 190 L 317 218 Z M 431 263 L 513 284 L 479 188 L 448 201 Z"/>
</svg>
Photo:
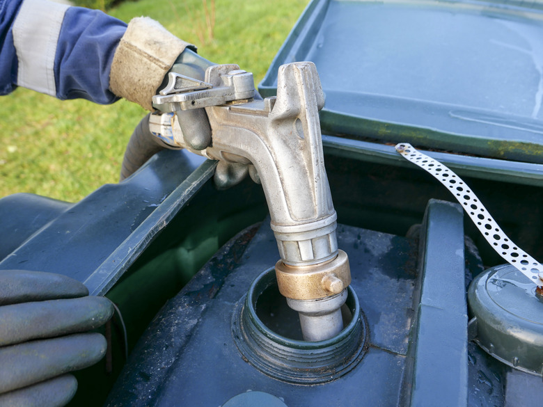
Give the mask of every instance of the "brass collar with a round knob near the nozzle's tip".
<svg viewBox="0 0 543 407">
<path fill-rule="evenodd" d="M 310 266 L 288 266 L 279 260 L 275 265 L 279 292 L 295 300 L 314 300 L 343 292 L 351 283 L 347 253 L 338 250 L 329 262 Z"/>
</svg>

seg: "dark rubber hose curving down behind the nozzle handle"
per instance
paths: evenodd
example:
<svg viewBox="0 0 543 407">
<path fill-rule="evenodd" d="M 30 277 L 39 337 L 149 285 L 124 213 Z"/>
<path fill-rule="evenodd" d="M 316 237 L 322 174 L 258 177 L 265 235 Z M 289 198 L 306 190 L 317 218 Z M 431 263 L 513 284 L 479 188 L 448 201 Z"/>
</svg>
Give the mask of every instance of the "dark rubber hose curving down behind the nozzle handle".
<svg viewBox="0 0 543 407">
<path fill-rule="evenodd" d="M 134 133 L 130 136 L 125 151 L 125 157 L 123 158 L 123 167 L 120 170 L 120 181 L 123 181 L 123 179 L 126 179 L 135 173 L 138 168 L 143 166 L 145 161 L 150 159 L 160 150 L 164 150 L 165 148 L 180 150 L 181 148 L 168 145 L 157 136 L 153 136 L 149 129 L 150 114 L 151 113 L 148 113 L 141 119 L 139 125 L 134 129 Z"/>
</svg>

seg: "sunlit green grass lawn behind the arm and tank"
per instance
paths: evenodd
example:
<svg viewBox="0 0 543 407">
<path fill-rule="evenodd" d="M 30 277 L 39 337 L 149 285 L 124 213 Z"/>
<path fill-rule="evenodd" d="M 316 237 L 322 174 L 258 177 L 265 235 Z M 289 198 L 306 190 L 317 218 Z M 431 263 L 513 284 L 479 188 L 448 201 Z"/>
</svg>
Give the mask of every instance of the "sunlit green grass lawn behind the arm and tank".
<svg viewBox="0 0 543 407">
<path fill-rule="evenodd" d="M 200 55 L 215 63 L 237 63 L 258 83 L 307 3 L 216 0 L 213 39 L 206 35 L 202 0 L 125 2 L 109 14 L 125 22 L 141 15 L 157 19 L 198 45 Z M 145 115 L 125 100 L 99 106 L 23 88 L 0 102 L 0 197 L 30 192 L 76 202 L 102 184 L 117 182 L 126 143 Z"/>
</svg>

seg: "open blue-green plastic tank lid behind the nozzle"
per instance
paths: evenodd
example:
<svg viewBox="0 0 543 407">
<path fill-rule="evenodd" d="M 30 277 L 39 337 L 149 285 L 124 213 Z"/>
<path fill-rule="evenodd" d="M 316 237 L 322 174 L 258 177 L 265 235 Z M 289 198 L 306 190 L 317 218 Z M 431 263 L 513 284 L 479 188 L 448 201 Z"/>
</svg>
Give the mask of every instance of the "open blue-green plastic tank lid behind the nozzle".
<svg viewBox="0 0 543 407">
<path fill-rule="evenodd" d="M 542 19 L 537 1 L 311 1 L 259 90 L 313 61 L 325 134 L 541 164 Z"/>
</svg>

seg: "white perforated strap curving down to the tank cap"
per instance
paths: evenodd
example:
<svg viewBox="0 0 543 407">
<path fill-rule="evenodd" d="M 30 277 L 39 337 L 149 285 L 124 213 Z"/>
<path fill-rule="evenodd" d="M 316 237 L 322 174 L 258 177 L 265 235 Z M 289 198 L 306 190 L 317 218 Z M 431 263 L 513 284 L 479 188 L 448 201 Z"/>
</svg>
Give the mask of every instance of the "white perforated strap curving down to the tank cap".
<svg viewBox="0 0 543 407">
<path fill-rule="evenodd" d="M 496 250 L 496 253 L 528 277 L 531 282 L 543 286 L 543 266 L 540 262 L 537 262 L 507 237 L 475 193 L 458 175 L 439 161 L 418 152 L 409 143 L 396 145 L 396 151 L 402 154 L 405 159 L 432 174 L 441 184 L 446 186 L 455 195 L 455 198 L 460 202 L 485 239 Z"/>
</svg>

